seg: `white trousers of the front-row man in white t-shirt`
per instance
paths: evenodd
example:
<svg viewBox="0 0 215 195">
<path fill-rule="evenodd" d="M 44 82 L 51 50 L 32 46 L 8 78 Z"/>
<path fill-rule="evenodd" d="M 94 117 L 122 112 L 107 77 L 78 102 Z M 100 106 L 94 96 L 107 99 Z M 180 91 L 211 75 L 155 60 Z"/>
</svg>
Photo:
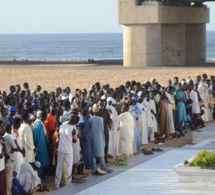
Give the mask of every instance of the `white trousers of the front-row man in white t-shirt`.
<svg viewBox="0 0 215 195">
<path fill-rule="evenodd" d="M 62 179 L 63 164 L 66 163 L 66 185 L 71 184 L 72 180 L 72 165 L 73 165 L 73 154 L 63 154 L 58 152 L 57 156 L 57 167 L 55 172 L 55 187 L 60 187 Z"/>
</svg>

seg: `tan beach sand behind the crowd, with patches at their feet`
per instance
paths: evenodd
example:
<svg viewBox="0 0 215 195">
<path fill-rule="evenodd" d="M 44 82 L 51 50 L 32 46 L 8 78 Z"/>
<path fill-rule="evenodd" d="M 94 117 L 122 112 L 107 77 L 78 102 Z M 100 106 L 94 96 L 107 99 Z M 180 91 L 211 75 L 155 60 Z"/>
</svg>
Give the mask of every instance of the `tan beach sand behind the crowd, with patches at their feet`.
<svg viewBox="0 0 215 195">
<path fill-rule="evenodd" d="M 76 88 L 89 89 L 90 85 L 99 81 L 102 85 L 109 83 L 111 87 L 124 84 L 127 80 L 136 80 L 143 83 L 156 78 L 163 86 L 169 79 L 178 76 L 179 80 L 206 73 L 215 74 L 215 67 L 138 67 L 126 68 L 120 65 L 96 64 L 55 64 L 55 65 L 0 65 L 0 89 L 8 91 L 10 85 L 28 82 L 33 90 L 38 84 L 42 90 L 52 91 L 57 87 L 69 86 L 72 91 Z M 169 139 L 162 146 L 150 144 L 149 147 L 181 147 L 191 143 L 192 132 L 189 130 L 185 137 Z M 111 161 L 109 165 L 112 165 Z M 48 178 L 47 185 L 54 190 L 54 177 Z M 37 193 L 36 193 L 37 194 Z M 46 194 L 46 193 L 38 193 Z"/>
</svg>

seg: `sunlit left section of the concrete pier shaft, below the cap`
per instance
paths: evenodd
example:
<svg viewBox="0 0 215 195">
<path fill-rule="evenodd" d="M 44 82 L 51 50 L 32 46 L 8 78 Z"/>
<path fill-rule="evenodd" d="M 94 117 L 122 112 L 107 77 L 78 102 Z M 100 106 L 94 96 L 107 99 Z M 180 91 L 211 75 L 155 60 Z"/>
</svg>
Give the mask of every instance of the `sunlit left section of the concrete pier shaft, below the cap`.
<svg viewBox="0 0 215 195">
<path fill-rule="evenodd" d="M 155 66 L 161 60 L 161 25 L 124 25 L 124 66 Z"/>
</svg>

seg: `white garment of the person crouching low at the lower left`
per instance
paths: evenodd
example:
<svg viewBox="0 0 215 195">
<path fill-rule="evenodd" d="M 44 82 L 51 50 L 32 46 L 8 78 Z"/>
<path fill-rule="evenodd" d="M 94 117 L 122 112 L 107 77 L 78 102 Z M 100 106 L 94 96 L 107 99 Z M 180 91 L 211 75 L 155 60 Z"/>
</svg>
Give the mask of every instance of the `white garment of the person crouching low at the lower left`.
<svg viewBox="0 0 215 195">
<path fill-rule="evenodd" d="M 29 190 L 35 191 L 37 186 L 41 183 L 37 171 L 35 171 L 28 162 L 22 164 L 19 177 L 17 178 L 25 192 Z"/>
</svg>

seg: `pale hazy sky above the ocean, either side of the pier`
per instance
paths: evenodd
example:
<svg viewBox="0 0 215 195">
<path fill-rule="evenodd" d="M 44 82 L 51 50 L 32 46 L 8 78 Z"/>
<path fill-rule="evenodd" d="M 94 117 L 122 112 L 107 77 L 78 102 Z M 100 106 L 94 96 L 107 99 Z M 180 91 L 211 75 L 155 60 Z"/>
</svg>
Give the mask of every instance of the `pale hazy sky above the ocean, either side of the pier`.
<svg viewBox="0 0 215 195">
<path fill-rule="evenodd" d="M 118 0 L 0 0 L 0 33 L 122 32 Z M 208 30 L 215 30 L 215 2 Z"/>
</svg>

